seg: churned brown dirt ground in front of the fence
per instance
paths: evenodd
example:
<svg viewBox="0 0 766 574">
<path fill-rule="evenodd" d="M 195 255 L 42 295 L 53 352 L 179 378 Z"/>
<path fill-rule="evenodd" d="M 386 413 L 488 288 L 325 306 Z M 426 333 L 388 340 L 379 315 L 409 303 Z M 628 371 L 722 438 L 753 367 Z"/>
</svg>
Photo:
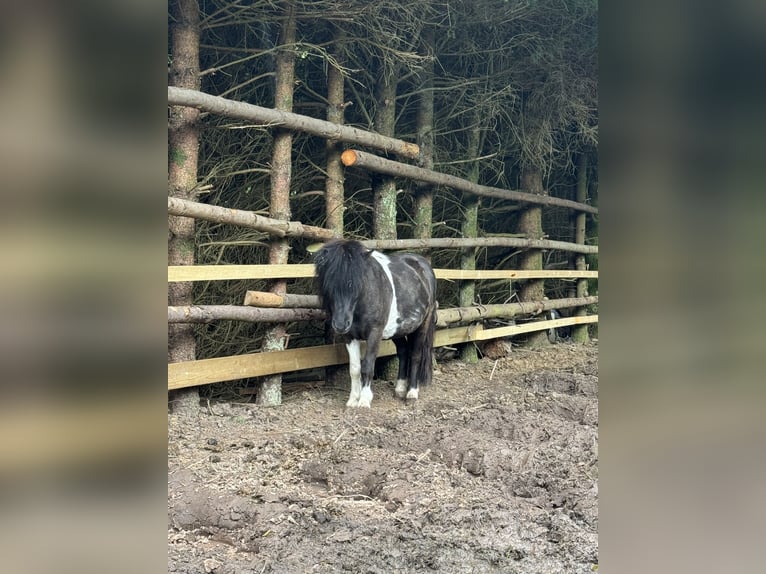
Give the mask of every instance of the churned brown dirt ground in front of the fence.
<svg viewBox="0 0 766 574">
<path fill-rule="evenodd" d="M 579 573 L 598 566 L 598 347 L 439 364 L 277 408 L 168 416 L 168 571 Z"/>
</svg>

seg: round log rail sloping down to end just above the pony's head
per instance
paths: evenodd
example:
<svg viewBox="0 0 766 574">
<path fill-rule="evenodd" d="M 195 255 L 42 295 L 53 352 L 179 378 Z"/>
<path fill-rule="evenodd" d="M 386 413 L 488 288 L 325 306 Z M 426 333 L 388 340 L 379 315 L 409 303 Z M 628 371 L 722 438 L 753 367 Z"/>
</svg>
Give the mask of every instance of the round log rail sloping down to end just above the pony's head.
<svg viewBox="0 0 766 574">
<path fill-rule="evenodd" d="M 280 219 L 263 217 L 252 211 L 207 205 L 177 197 L 168 197 L 168 213 L 170 215 L 204 219 L 205 221 L 215 221 L 216 223 L 230 223 L 232 225 L 249 227 L 275 237 L 307 237 L 319 241 L 329 241 L 338 237 L 337 234 L 329 229 L 303 225 L 299 221 L 282 221 Z"/>
</svg>

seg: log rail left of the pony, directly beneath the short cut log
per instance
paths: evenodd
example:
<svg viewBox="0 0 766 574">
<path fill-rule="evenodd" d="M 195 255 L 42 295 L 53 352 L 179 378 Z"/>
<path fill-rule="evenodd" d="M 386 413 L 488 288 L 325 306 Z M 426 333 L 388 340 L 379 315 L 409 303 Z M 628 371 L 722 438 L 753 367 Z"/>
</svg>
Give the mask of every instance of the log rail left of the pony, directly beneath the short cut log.
<svg viewBox="0 0 766 574">
<path fill-rule="evenodd" d="M 236 305 L 168 306 L 168 323 L 212 323 L 213 321 L 248 321 L 250 323 L 285 323 L 324 319 L 321 309 L 261 309 Z"/>
</svg>

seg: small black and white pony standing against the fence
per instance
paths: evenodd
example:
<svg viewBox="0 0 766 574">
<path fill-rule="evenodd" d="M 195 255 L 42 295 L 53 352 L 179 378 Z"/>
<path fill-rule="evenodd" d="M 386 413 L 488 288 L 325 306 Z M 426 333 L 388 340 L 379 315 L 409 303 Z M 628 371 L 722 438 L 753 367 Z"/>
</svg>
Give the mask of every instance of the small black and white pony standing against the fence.
<svg viewBox="0 0 766 574">
<path fill-rule="evenodd" d="M 358 241 L 334 240 L 314 259 L 319 296 L 333 331 L 348 349 L 349 407 L 369 407 L 381 339 L 393 339 L 399 357 L 396 396 L 418 398 L 433 377 L 436 277 L 425 258 L 384 255 Z M 360 342 L 366 341 L 364 359 Z"/>
</svg>

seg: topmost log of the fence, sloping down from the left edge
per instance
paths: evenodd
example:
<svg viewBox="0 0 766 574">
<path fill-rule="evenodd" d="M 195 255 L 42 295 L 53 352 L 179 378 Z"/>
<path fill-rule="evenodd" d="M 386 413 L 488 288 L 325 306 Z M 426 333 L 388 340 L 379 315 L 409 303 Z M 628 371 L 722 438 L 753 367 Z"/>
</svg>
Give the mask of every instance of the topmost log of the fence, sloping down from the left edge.
<svg viewBox="0 0 766 574">
<path fill-rule="evenodd" d="M 281 126 L 294 131 L 303 131 L 327 140 L 371 147 L 382 152 L 394 153 L 410 159 L 417 158 L 420 153 L 420 148 L 414 143 L 292 112 L 282 112 L 244 102 L 227 100 L 226 98 L 205 94 L 196 90 L 168 87 L 168 103 L 177 106 L 189 106 L 229 118 L 257 122 L 262 125 Z"/>
</svg>

